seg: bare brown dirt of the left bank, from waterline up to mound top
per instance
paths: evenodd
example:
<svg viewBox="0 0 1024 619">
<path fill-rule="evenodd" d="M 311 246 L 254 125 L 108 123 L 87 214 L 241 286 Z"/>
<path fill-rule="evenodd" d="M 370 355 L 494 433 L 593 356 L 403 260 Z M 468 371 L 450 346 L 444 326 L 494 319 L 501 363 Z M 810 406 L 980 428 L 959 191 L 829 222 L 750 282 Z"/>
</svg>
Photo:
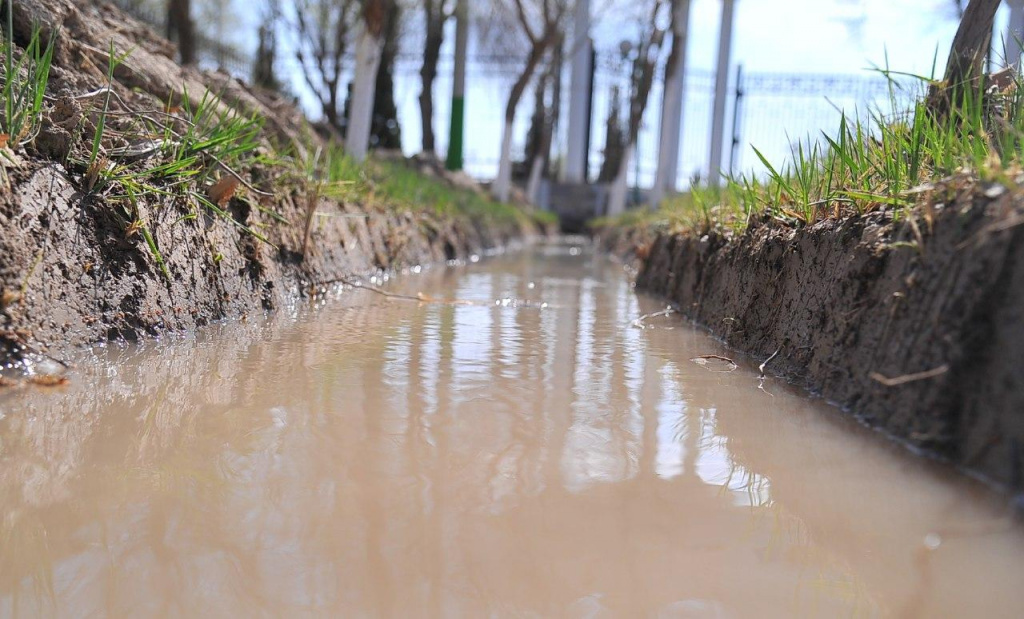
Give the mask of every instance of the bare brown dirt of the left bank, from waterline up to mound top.
<svg viewBox="0 0 1024 619">
<path fill-rule="evenodd" d="M 177 66 L 165 41 L 113 5 L 39 0 L 13 6 L 18 45 L 27 45 L 35 25 L 44 40 L 58 27 L 59 36 L 40 134 L 6 162 L 9 182 L 0 190 L 0 365 L 17 360 L 27 344 L 59 358 L 92 341 L 190 329 L 281 306 L 311 282 L 458 258 L 532 232 L 525 217 L 495 221 L 433 208 L 402 210 L 386 196 L 317 198 L 304 250 L 308 188 L 282 181 L 278 170 L 258 163 L 239 170 L 254 191 L 240 187 L 219 214 L 176 190 L 129 201 L 124 187 L 97 191 L 89 170 L 73 163 L 76 153 L 88 153 L 95 113 L 79 112 L 74 128 L 58 116 L 69 97 L 82 97 L 82 106 L 97 98 L 86 97 L 108 84 L 112 44 L 119 53 L 131 50 L 111 84 L 122 110 L 151 110 L 150 118 L 159 120 L 179 114 L 174 101 L 186 106 L 189 97 L 200 106 L 212 91 L 227 114 L 263 120 L 261 152 L 284 143 L 298 158 L 323 142 L 288 101 L 223 74 Z M 127 134 L 131 116 L 112 115 L 106 133 Z M 65 143 L 54 147 L 54 137 Z M 117 146 L 104 142 L 104 150 Z M 132 165 L 129 171 L 146 164 Z M 470 191 L 449 181 L 453 191 Z"/>
</svg>

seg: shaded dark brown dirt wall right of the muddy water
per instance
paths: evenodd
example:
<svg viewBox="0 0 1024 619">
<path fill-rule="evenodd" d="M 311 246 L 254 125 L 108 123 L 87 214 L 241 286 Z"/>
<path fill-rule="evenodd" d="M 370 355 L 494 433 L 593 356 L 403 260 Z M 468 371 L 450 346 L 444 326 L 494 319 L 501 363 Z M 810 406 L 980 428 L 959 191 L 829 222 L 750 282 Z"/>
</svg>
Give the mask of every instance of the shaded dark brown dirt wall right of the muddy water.
<svg viewBox="0 0 1024 619">
<path fill-rule="evenodd" d="M 777 352 L 770 372 L 1017 492 L 1024 201 L 973 183 L 943 192 L 947 205 L 895 221 L 760 217 L 738 236 L 620 231 L 604 242 L 634 248 L 638 286 L 730 345 L 758 360 Z"/>
</svg>

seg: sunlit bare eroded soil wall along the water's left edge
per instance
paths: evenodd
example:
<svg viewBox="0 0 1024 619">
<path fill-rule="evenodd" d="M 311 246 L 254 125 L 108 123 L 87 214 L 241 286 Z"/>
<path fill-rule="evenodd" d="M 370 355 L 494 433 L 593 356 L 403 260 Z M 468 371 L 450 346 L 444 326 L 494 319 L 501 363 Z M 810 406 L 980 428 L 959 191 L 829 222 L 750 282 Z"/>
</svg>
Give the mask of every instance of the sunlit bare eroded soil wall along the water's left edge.
<svg viewBox="0 0 1024 619">
<path fill-rule="evenodd" d="M 0 331 L 60 357 L 93 341 L 275 308 L 310 283 L 464 257 L 530 232 L 325 201 L 303 258 L 301 226 L 270 229 L 267 244 L 221 217 L 182 220 L 175 209 L 148 205 L 142 215 L 166 278 L 142 236 L 126 235 L 106 208 L 56 165 L 0 199 L 0 290 L 8 295 Z M 269 216 L 254 210 L 236 218 L 254 226 Z M 0 356 L 15 345 L 10 337 L 0 344 Z"/>
</svg>

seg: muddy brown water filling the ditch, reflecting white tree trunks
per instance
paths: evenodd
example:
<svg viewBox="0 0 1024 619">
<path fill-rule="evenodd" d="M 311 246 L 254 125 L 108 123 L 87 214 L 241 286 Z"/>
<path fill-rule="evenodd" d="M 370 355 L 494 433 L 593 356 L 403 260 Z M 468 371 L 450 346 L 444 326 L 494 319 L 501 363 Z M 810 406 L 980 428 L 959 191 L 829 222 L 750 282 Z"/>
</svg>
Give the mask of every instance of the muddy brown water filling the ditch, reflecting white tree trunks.
<svg viewBox="0 0 1024 619">
<path fill-rule="evenodd" d="M 1005 499 L 571 242 L 0 393 L 0 616 L 1020 616 Z"/>
</svg>

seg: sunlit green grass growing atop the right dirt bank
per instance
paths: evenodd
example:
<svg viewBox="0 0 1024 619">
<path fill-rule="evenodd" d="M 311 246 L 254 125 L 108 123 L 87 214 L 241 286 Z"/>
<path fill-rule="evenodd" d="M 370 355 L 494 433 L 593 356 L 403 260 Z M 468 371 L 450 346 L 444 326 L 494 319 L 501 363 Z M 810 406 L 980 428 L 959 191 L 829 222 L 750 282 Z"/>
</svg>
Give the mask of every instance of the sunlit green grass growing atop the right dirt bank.
<svg viewBox="0 0 1024 619">
<path fill-rule="evenodd" d="M 721 188 L 694 188 L 653 212 L 613 223 L 700 232 L 742 230 L 755 213 L 795 225 L 879 209 L 899 217 L 934 181 L 962 176 L 1008 187 L 1017 182 L 1024 169 L 1019 83 L 988 93 L 983 86 L 965 89 L 948 113 L 935 114 L 924 96 L 927 80 L 907 89 L 894 74 L 883 74 L 890 78 L 887 111 L 873 110 L 866 118 L 844 114 L 834 132 L 795 142 L 784 162 L 755 150 L 766 173 L 727 177 Z"/>
</svg>

